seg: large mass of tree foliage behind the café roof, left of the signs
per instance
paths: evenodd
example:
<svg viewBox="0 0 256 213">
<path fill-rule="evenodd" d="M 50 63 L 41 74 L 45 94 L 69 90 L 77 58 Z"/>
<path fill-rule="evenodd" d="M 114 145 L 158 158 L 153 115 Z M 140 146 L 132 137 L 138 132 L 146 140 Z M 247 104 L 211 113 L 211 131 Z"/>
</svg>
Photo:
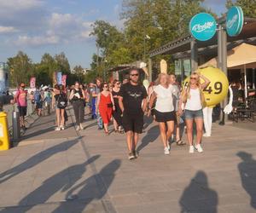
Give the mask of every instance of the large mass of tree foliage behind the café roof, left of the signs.
<svg viewBox="0 0 256 213">
<path fill-rule="evenodd" d="M 108 22 L 97 20 L 92 36 L 102 50 L 100 57 L 108 66 L 131 63 L 148 58 L 150 50 L 171 42 L 189 32 L 189 20 L 194 14 L 209 11 L 202 7 L 203 0 L 124 0 L 120 18 L 125 22 L 120 31 Z M 212 13 L 212 12 L 211 12 Z M 170 58 L 170 55 L 168 56 Z M 96 55 L 93 55 L 93 60 Z M 156 60 L 159 60 L 156 58 Z M 92 63 L 100 72 L 104 63 Z"/>
</svg>

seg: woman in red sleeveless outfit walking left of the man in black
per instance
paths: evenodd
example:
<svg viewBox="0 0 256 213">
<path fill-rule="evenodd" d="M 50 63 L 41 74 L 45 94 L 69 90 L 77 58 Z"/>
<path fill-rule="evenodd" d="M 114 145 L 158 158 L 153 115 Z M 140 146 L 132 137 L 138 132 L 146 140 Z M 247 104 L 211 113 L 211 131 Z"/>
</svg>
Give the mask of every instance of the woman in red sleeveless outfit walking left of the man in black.
<svg viewBox="0 0 256 213">
<path fill-rule="evenodd" d="M 102 83 L 102 92 L 97 96 L 96 112 L 100 112 L 106 135 L 109 135 L 108 123 L 110 122 L 112 112 L 114 110 L 115 107 L 113 102 L 113 95 L 110 91 L 108 91 L 108 83 Z"/>
</svg>

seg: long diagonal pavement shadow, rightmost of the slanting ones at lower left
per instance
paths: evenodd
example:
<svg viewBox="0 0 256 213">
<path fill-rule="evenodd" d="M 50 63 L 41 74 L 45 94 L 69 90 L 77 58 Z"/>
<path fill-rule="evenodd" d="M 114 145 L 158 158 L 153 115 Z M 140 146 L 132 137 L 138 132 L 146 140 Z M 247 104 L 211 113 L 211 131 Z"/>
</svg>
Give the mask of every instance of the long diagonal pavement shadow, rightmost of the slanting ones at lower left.
<svg viewBox="0 0 256 213">
<path fill-rule="evenodd" d="M 70 212 L 82 213 L 86 206 L 93 200 L 101 200 L 108 192 L 108 187 L 113 182 L 115 172 L 119 170 L 121 162 L 119 159 L 114 159 L 109 164 L 105 165 L 100 172 L 94 176 L 90 176 L 78 185 L 74 186 L 67 192 L 67 198 L 75 198 L 69 202 L 63 202 L 52 213 Z M 102 178 L 105 177 L 105 178 Z M 103 182 L 102 179 L 105 181 Z M 106 181 L 107 180 L 107 181 Z M 104 198 L 108 200 L 107 198 Z M 109 202 L 108 205 L 111 205 Z M 113 206 L 108 208 L 114 210 Z M 90 211 L 90 210 L 89 210 Z M 69 212 L 69 211 L 68 211 Z M 109 212 L 112 212 L 111 210 Z"/>
</svg>

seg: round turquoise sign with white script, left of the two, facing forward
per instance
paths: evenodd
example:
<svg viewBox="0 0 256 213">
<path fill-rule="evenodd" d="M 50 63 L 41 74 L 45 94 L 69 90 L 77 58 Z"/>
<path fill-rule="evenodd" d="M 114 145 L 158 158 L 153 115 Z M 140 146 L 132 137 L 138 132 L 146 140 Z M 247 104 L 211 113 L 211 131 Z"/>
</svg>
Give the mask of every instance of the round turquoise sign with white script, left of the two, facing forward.
<svg viewBox="0 0 256 213">
<path fill-rule="evenodd" d="M 195 14 L 189 22 L 189 32 L 199 41 L 211 39 L 216 32 L 216 20 L 211 14 Z"/>
</svg>

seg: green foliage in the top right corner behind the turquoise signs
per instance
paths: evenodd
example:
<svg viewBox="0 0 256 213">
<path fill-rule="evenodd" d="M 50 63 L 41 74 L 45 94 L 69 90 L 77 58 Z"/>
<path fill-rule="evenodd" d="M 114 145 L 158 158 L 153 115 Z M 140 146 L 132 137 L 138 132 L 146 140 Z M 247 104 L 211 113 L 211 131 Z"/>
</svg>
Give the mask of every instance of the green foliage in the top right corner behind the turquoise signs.
<svg viewBox="0 0 256 213">
<path fill-rule="evenodd" d="M 237 0 L 235 3 L 231 0 L 226 1 L 226 8 L 230 9 L 232 6 L 240 6 L 244 16 L 249 18 L 256 18 L 256 1 L 255 0 Z"/>
</svg>

